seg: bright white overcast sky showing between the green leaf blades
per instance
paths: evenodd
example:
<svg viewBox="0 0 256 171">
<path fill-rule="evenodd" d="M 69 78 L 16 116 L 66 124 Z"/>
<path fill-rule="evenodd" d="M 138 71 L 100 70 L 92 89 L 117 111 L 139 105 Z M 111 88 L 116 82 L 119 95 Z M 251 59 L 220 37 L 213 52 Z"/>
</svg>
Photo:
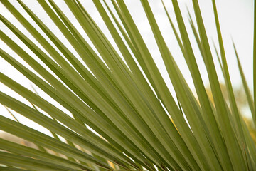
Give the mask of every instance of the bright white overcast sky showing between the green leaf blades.
<svg viewBox="0 0 256 171">
<path fill-rule="evenodd" d="M 108 1 L 108 0 L 107 0 Z M 213 18 L 213 9 L 211 6 L 211 0 L 198 0 L 199 4 L 201 6 L 201 12 L 203 14 L 203 19 L 206 26 L 206 31 L 208 33 L 208 38 L 210 43 L 212 43 L 211 39 L 217 42 L 217 35 L 215 31 L 215 21 Z M 42 21 L 51 28 L 55 32 L 55 36 L 58 36 L 60 40 L 63 41 L 63 43 L 67 43 L 68 48 L 70 48 L 71 51 L 75 54 L 75 51 L 72 47 L 68 45 L 68 42 L 63 38 L 60 31 L 58 31 L 58 28 L 56 28 L 52 21 L 46 16 L 46 13 L 41 9 L 41 6 L 38 5 L 36 0 L 31 1 L 23 1 L 25 4 L 27 4 L 29 7 L 31 7 L 32 11 L 34 11 Z M 154 60 L 156 61 L 157 66 L 159 66 L 159 70 L 161 71 L 162 75 L 164 76 L 164 79 L 166 83 L 168 84 L 169 88 L 171 89 L 171 82 L 169 81 L 168 74 L 166 73 L 166 70 L 164 69 L 164 63 L 161 61 L 160 53 L 157 49 L 156 42 L 154 41 L 154 36 L 151 33 L 151 30 L 149 29 L 149 23 L 146 20 L 146 15 L 143 12 L 142 5 L 140 4 L 139 0 L 126 0 L 128 9 L 131 12 L 132 16 L 134 17 L 134 21 L 137 24 L 139 31 L 142 33 L 142 36 L 144 38 L 144 41 L 146 41 L 146 44 L 149 48 L 149 51 L 151 52 L 151 55 L 154 57 Z M 191 31 L 191 28 L 188 24 L 188 15 L 186 12 L 186 5 L 188 6 L 188 9 L 190 10 L 193 21 L 196 22 L 194 16 L 193 16 L 193 6 L 190 0 L 179 0 L 178 1 L 181 6 L 181 11 L 183 13 L 183 17 L 186 20 L 186 26 L 188 26 L 188 34 L 191 36 L 191 43 L 194 46 L 194 51 L 197 57 L 198 61 L 198 68 L 200 68 L 200 71 L 202 73 L 202 78 L 204 83 L 208 83 L 208 76 L 206 74 L 206 69 L 203 66 L 203 61 L 201 59 L 200 53 L 198 51 L 198 48 L 196 46 L 196 41 L 193 38 L 193 33 Z M 11 1 L 12 4 L 15 6 L 18 3 L 16 1 Z M 63 0 L 56 1 L 57 4 L 60 5 L 61 9 L 64 9 L 65 12 L 68 14 L 68 17 L 75 23 L 75 26 L 78 26 L 78 29 L 80 33 L 82 33 L 85 38 L 87 38 L 86 34 L 82 31 L 82 28 L 80 28 L 78 21 L 76 21 L 72 14 L 69 14 L 69 11 L 65 4 L 63 3 Z M 167 45 L 169 46 L 172 55 L 176 59 L 176 62 L 178 63 L 178 66 L 180 66 L 181 71 L 183 75 L 186 78 L 186 81 L 188 81 L 189 86 L 193 88 L 193 82 L 191 79 L 191 76 L 189 74 L 188 68 L 186 67 L 185 61 L 183 59 L 183 56 L 181 55 L 181 52 L 178 48 L 178 43 L 176 43 L 176 39 L 174 37 L 174 33 L 171 30 L 171 26 L 169 24 L 169 21 L 166 17 L 165 11 L 163 6 L 161 5 L 160 0 L 150 0 L 149 1 L 151 8 L 155 14 L 156 21 L 158 21 L 159 27 L 162 31 L 162 34 L 164 35 L 165 41 Z M 174 16 L 174 10 L 171 6 L 171 1 L 165 0 L 164 3 L 166 4 L 167 9 L 169 10 L 169 14 L 171 14 L 171 19 L 173 19 L 174 23 L 175 16 Z M 247 78 L 247 81 L 249 83 L 250 88 L 252 89 L 252 38 L 253 38 L 253 1 L 252 0 L 216 0 L 217 3 L 217 9 L 218 9 L 218 15 L 220 19 L 220 27 L 221 31 L 223 33 L 223 41 L 225 45 L 225 52 L 228 60 L 228 67 L 230 69 L 230 76 L 233 84 L 235 86 L 240 86 L 240 75 L 237 67 L 237 63 L 235 60 L 235 53 L 233 51 L 233 44 L 231 41 L 231 37 L 233 37 L 233 40 L 235 41 L 235 45 L 238 49 L 238 54 L 240 56 L 240 61 L 242 63 L 242 67 L 245 72 L 245 76 Z M 96 23 L 99 24 L 100 28 L 102 28 L 102 31 L 106 33 L 107 37 L 110 38 L 111 43 L 114 47 L 114 41 L 112 40 L 110 33 L 107 31 L 107 28 L 100 19 L 100 14 L 97 13 L 97 10 L 95 9 L 95 6 L 93 5 L 92 1 L 90 0 L 84 0 L 82 1 L 82 4 L 84 4 L 85 9 L 89 12 L 89 14 L 92 16 L 93 19 L 95 19 Z M 29 17 L 26 15 L 26 13 L 22 10 L 21 7 L 19 7 L 24 14 L 24 16 L 29 19 Z M 0 3 L 0 14 L 5 16 L 6 19 L 9 19 L 14 25 L 18 26 L 20 30 L 28 35 L 29 38 L 31 38 L 32 41 L 36 43 L 36 41 L 33 39 L 32 36 L 29 35 L 29 33 L 26 31 L 21 24 L 19 24 L 16 19 L 14 19 L 14 16 L 12 16 L 7 9 Z M 31 19 L 29 19 L 31 21 Z M 33 21 L 32 21 L 33 23 Z M 176 28 L 177 25 L 176 25 Z M 9 31 L 4 24 L 0 22 L 0 29 L 4 31 L 4 33 L 7 33 L 11 38 L 14 38 L 14 40 L 17 41 L 17 39 L 13 36 L 13 34 Z M 18 44 L 26 49 L 28 53 L 31 54 L 31 56 L 34 56 L 31 51 L 23 46 L 23 43 L 21 41 L 17 41 Z M 38 44 L 38 43 L 37 43 Z M 0 40 L 0 46 L 6 52 L 13 55 L 18 61 L 21 61 L 24 63 L 18 56 L 16 56 L 15 53 L 13 53 L 4 43 Z M 215 51 L 213 51 L 213 54 L 215 55 Z M 36 56 L 35 56 L 36 58 Z M 217 62 L 216 58 L 215 61 Z M 26 63 L 24 63 L 26 65 Z M 26 65 L 28 66 L 28 65 Z M 218 65 L 216 65 L 220 81 L 223 81 L 223 78 L 220 73 L 220 68 Z M 26 86 L 27 88 L 31 89 L 30 82 L 28 79 L 26 79 L 24 76 L 21 75 L 21 73 L 18 73 L 15 68 L 13 68 L 9 63 L 6 63 L 2 58 L 0 58 L 0 71 L 10 78 L 13 78 L 15 81 L 18 81 L 18 83 L 21 83 L 23 86 Z M 17 98 L 18 100 L 24 101 L 23 98 L 21 98 L 16 93 L 13 93 L 9 88 L 6 88 L 3 84 L 0 83 L 0 90 L 4 93 L 8 93 L 9 95 Z M 38 90 L 38 88 L 37 88 Z M 50 102 L 55 103 L 53 100 L 48 98 L 46 95 L 43 94 L 40 90 L 38 90 L 43 97 L 50 100 Z M 24 103 L 26 103 L 24 101 Z M 29 105 L 29 103 L 26 103 Z M 57 104 L 56 104 L 57 105 Z M 6 117 L 11 118 L 9 113 L 5 110 L 5 108 L 0 105 L 0 115 L 5 115 Z M 43 132 L 46 130 L 43 130 L 43 128 L 40 128 L 35 123 L 27 120 L 26 118 L 23 118 L 21 115 L 17 115 L 17 118 L 21 120 L 21 123 L 26 123 L 28 125 L 33 125 L 33 128 L 41 129 Z"/>
</svg>

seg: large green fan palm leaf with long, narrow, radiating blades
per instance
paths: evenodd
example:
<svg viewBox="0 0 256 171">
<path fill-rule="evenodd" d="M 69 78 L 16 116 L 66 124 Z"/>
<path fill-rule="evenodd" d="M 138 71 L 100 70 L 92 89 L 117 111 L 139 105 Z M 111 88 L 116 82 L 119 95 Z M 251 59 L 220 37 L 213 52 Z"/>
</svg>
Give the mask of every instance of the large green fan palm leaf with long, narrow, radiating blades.
<svg viewBox="0 0 256 171">
<path fill-rule="evenodd" d="M 236 104 L 214 0 L 220 64 L 229 103 L 220 90 L 197 0 L 193 0 L 196 24 L 189 12 L 188 16 L 206 66 L 213 101 L 203 84 L 178 1 L 172 0 L 178 29 L 164 1 L 161 3 L 196 94 L 164 41 L 148 1 L 141 1 L 142 12 L 149 21 L 152 41 L 156 41 L 175 95 L 164 81 L 124 1 L 92 1 L 107 27 L 105 31 L 94 21 L 83 1 L 63 1 L 78 21 L 75 23 L 55 1 L 38 0 L 44 15 L 50 16 L 68 43 L 61 41 L 25 1 L 17 2 L 14 5 L 1 1 L 1 4 L 37 43 L 0 14 L 3 26 L 13 33 L 9 36 L 4 29 L 0 30 L 1 40 L 28 65 L 4 48 L 0 48 L 0 56 L 28 78 L 34 91 L 40 89 L 43 94 L 38 95 L 8 74 L 0 73 L 1 83 L 32 107 L 4 90 L 0 93 L 0 103 L 51 134 L 0 115 L 0 130 L 33 142 L 39 149 L 0 138 L 0 170 L 255 170 L 255 144 Z M 20 41 L 29 52 L 20 46 Z M 255 119 L 255 105 L 239 59 L 238 68 Z M 48 98 L 58 105 L 50 103 Z M 11 115 L 16 118 L 15 113 Z"/>
</svg>

